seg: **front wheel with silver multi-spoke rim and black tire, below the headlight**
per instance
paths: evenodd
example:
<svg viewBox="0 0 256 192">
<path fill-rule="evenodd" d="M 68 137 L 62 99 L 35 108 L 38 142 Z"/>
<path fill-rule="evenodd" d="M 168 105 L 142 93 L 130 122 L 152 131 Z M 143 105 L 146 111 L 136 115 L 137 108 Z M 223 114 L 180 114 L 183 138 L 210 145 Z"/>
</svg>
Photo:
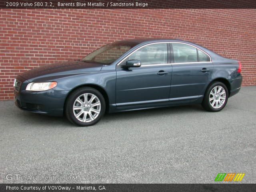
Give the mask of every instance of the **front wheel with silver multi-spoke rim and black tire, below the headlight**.
<svg viewBox="0 0 256 192">
<path fill-rule="evenodd" d="M 105 113 L 105 100 L 94 88 L 79 88 L 67 99 L 65 113 L 68 120 L 79 126 L 96 124 Z"/>
</svg>

